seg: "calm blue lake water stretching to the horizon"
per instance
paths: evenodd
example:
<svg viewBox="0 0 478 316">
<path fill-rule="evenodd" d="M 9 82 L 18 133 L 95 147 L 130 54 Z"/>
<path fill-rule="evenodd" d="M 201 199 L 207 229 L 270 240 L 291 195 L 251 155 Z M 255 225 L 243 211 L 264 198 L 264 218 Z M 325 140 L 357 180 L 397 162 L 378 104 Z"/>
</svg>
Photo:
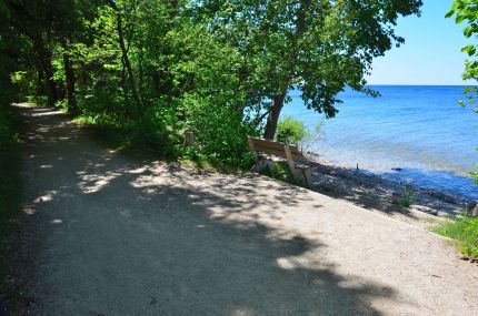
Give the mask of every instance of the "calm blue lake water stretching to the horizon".
<svg viewBox="0 0 478 316">
<path fill-rule="evenodd" d="M 336 118 L 307 110 L 298 91 L 281 116 L 291 115 L 320 134 L 309 150 L 342 166 L 478 198 L 469 172 L 478 162 L 478 114 L 461 108 L 464 86 L 376 85 L 381 96 L 340 94 Z M 392 169 L 400 169 L 396 171 Z"/>
</svg>

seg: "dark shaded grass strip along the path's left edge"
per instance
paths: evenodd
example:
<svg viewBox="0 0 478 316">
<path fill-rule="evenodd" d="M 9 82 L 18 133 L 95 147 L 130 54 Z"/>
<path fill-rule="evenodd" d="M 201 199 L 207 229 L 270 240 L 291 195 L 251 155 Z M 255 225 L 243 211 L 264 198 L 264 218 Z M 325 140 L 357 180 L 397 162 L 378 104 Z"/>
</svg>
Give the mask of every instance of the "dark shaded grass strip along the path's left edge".
<svg viewBox="0 0 478 316">
<path fill-rule="evenodd" d="M 11 234 L 18 227 L 22 203 L 21 155 L 14 126 L 18 122 L 13 110 L 0 108 L 0 297 L 10 306 L 18 297 L 7 283 L 13 264 Z"/>
</svg>

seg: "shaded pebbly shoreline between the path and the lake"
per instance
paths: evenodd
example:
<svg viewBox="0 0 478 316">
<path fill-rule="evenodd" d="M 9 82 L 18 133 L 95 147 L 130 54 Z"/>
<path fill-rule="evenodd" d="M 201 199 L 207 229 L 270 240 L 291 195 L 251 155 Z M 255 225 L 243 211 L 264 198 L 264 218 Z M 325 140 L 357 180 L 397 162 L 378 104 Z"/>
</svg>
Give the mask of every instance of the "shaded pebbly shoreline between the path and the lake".
<svg viewBox="0 0 478 316">
<path fill-rule="evenodd" d="M 308 152 L 305 157 L 311 167 L 312 191 L 392 217 L 421 217 L 420 213 L 436 218 L 452 217 L 476 203 L 472 198 L 394 182 L 369 171 L 343 167 L 316 153 Z M 397 203 L 406 194 L 411 204 L 409 207 Z"/>
</svg>

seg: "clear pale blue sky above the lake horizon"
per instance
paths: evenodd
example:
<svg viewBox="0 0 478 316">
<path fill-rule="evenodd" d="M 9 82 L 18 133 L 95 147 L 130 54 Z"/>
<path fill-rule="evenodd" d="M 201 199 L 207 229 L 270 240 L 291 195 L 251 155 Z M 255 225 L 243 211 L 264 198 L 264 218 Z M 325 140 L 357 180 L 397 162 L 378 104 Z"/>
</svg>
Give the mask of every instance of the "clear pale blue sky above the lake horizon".
<svg viewBox="0 0 478 316">
<path fill-rule="evenodd" d="M 405 44 L 374 61 L 370 84 L 466 84 L 461 80 L 470 43 L 464 24 L 445 19 L 454 0 L 424 0 L 421 17 L 400 18 L 397 34 Z"/>
</svg>

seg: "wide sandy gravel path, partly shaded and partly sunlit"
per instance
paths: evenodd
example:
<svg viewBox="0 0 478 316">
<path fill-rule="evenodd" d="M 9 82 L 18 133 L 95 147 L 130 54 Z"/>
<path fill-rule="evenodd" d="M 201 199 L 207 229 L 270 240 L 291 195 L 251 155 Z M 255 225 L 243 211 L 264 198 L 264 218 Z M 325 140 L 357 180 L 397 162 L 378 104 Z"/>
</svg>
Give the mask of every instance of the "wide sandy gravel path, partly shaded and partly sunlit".
<svg viewBox="0 0 478 316">
<path fill-rule="evenodd" d="M 478 315 L 446 238 L 256 174 L 133 162 L 23 110 L 30 315 Z"/>
</svg>

